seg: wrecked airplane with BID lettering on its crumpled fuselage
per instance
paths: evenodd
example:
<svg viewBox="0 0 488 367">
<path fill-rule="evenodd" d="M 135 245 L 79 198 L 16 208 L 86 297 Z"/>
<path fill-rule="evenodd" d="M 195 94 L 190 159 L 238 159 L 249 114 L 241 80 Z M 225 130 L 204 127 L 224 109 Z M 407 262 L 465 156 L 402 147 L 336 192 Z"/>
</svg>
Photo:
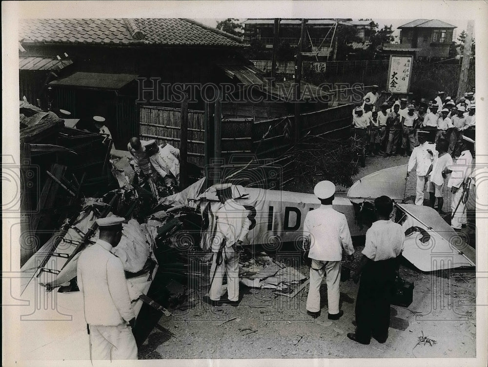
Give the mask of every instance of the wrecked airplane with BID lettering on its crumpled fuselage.
<svg viewBox="0 0 488 367">
<path fill-rule="evenodd" d="M 375 172 L 352 185 L 346 195 L 337 195 L 333 206 L 346 215 L 353 241 L 356 244 L 361 244 L 362 239 L 364 241 L 368 224 L 373 220 L 368 209 L 374 198 L 387 195 L 396 201 L 393 220 L 402 224 L 406 231 L 405 259 L 425 272 L 475 266 L 474 248 L 467 245 L 434 209 L 402 203 L 406 171 L 407 166 L 403 165 Z M 142 302 L 146 302 L 170 315 L 145 296 L 150 292 L 158 267 L 161 271 L 159 260 L 154 256 L 157 252 L 156 239 L 186 231 L 189 236 L 175 238 L 184 238 L 190 244 L 183 247 L 190 248 L 207 241 L 211 235 L 215 222 L 213 213 L 219 201 L 213 186 L 204 189 L 204 180 L 193 183 L 180 193 L 161 198 L 157 207 L 163 210 L 146 217 L 145 223 L 131 219 L 124 224 L 123 244 L 117 247 L 121 251 L 118 256 L 126 270 L 136 314 L 140 312 Z M 128 192 L 124 190 L 130 186 L 130 180 L 122 181 L 120 190 L 123 196 Z M 241 185 L 233 185 L 231 190 L 233 198 L 248 210 L 251 224 L 244 245 L 263 245 L 278 251 L 282 244 L 294 244 L 299 251 L 305 215 L 320 205 L 315 195 Z M 35 309 L 31 315 L 21 317 L 25 320 L 35 317 L 37 320 L 22 330 L 24 345 L 29 346 L 24 349 L 27 359 L 89 359 L 82 295 L 72 284 L 80 251 L 97 236 L 95 220 L 111 215 L 114 198 L 118 195 L 85 199 L 81 213 L 67 220 L 52 239 L 22 266 L 25 277 L 21 282 L 24 292 L 20 299 L 28 300 Z M 183 221 L 183 225 L 178 225 L 178 220 L 164 219 L 184 210 L 193 212 L 191 223 Z M 46 330 L 50 332 L 46 333 Z"/>
</svg>

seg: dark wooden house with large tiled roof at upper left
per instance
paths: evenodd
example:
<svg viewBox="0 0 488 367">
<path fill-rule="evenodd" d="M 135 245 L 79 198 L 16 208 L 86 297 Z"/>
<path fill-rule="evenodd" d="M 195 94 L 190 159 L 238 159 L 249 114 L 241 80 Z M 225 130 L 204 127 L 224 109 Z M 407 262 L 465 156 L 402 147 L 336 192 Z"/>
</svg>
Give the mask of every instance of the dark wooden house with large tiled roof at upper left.
<svg viewBox="0 0 488 367">
<path fill-rule="evenodd" d="M 141 105 L 179 106 L 172 97 L 181 91 L 162 83 L 196 84 L 189 108 L 201 110 L 198 85 L 235 82 L 239 72 L 229 77 L 226 68 L 252 67 L 238 38 L 188 19 L 31 19 L 20 22 L 19 37 L 21 65 L 31 65 L 20 67 L 20 98 L 68 110 L 81 127 L 105 117 L 118 149 L 139 135 Z M 36 60 L 72 64 L 53 70 L 47 62 L 48 77 L 32 73 Z"/>
</svg>

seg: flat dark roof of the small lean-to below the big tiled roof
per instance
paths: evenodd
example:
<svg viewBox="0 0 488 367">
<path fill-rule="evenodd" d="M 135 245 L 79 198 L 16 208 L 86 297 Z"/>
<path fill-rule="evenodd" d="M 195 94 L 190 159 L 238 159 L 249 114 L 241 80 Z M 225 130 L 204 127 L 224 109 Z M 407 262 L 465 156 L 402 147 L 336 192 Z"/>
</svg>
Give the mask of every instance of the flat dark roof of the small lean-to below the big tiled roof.
<svg viewBox="0 0 488 367">
<path fill-rule="evenodd" d="M 138 76 L 133 74 L 103 74 L 77 72 L 69 77 L 52 81 L 50 85 L 74 86 L 96 89 L 119 90 L 135 80 Z"/>
</svg>

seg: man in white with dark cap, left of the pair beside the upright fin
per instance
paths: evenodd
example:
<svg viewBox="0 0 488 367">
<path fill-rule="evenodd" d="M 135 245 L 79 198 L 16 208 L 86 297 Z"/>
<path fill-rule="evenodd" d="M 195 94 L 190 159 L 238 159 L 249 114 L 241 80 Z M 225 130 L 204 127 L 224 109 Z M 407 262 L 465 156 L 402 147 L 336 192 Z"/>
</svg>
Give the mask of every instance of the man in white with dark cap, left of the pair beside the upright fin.
<svg viewBox="0 0 488 367">
<path fill-rule="evenodd" d="M 417 186 L 415 189 L 415 204 L 424 204 L 424 190 L 426 185 L 427 171 L 434 159 L 435 145 L 427 143 L 428 132 L 419 131 L 419 146 L 413 148 L 412 155 L 408 160 L 407 177 L 410 171 L 417 164 Z"/>
</svg>

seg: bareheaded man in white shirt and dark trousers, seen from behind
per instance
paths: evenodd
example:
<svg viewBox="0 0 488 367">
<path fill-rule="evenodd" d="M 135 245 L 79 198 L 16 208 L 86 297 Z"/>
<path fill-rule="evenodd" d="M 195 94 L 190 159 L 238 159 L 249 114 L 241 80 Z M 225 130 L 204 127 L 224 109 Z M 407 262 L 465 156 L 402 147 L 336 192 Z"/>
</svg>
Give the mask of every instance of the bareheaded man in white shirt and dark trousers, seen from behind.
<svg viewBox="0 0 488 367">
<path fill-rule="evenodd" d="M 376 222 L 366 232 L 363 257 L 353 281 L 361 276 L 356 298 L 356 332 L 347 337 L 369 344 L 371 336 L 385 343 L 390 325 L 390 300 L 398 269 L 398 256 L 403 250 L 405 233 L 400 224 L 390 220 L 393 201 L 380 196 L 374 201 Z"/>
</svg>

